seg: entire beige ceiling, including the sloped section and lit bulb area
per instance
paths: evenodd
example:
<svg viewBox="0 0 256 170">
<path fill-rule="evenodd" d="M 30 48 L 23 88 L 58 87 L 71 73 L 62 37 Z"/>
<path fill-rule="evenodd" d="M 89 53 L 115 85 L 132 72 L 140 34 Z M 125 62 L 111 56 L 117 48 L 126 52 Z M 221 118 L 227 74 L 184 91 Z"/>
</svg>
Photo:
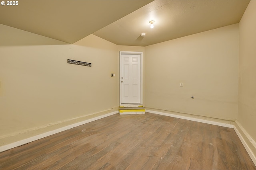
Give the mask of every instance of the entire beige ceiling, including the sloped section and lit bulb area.
<svg viewBox="0 0 256 170">
<path fill-rule="evenodd" d="M 20 0 L 0 6 L 0 23 L 67 43 L 94 34 L 117 45 L 147 46 L 238 23 L 250 2 L 152 1 Z"/>
</svg>

